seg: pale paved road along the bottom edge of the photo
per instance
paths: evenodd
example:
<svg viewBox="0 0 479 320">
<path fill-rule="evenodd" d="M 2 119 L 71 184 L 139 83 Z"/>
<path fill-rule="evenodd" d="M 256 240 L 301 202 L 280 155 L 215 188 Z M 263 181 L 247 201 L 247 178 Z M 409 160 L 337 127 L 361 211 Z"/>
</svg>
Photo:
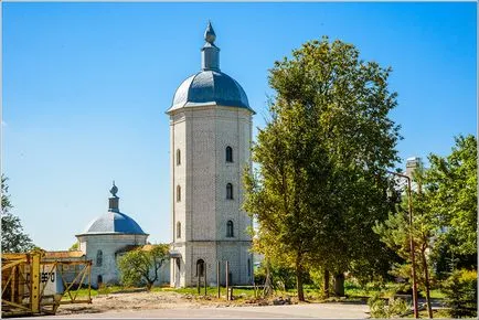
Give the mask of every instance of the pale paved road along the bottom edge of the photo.
<svg viewBox="0 0 479 320">
<path fill-rule="evenodd" d="M 292 306 L 265 307 L 219 307 L 190 309 L 153 309 L 132 311 L 108 311 L 103 313 L 79 313 L 53 317 L 55 318 L 322 318 L 322 319 L 364 319 L 369 307 L 351 303 L 310 303 Z"/>
</svg>

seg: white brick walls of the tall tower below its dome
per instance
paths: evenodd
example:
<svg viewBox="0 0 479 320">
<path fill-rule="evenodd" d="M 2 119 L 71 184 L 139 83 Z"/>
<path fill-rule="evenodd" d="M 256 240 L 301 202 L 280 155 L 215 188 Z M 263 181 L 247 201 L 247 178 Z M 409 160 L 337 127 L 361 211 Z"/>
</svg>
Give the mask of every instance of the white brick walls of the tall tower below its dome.
<svg viewBox="0 0 479 320">
<path fill-rule="evenodd" d="M 206 263 L 209 284 L 216 282 L 216 260 L 230 262 L 233 282 L 251 284 L 253 259 L 248 257 L 252 238 L 246 228 L 249 216 L 241 210 L 242 174 L 251 163 L 252 114 L 243 108 L 221 106 L 184 108 L 170 115 L 170 163 L 172 188 L 172 249 L 181 254 L 180 270 L 171 260 L 171 286 L 196 285 L 196 262 Z M 225 150 L 233 148 L 233 162 Z M 181 164 L 177 166 L 177 150 Z M 226 184 L 233 184 L 233 200 L 226 199 Z M 177 201 L 181 185 L 181 201 Z M 234 237 L 226 237 L 226 223 L 234 224 Z M 181 237 L 177 223 L 181 222 Z M 178 275 L 178 276 L 177 276 Z"/>
</svg>

